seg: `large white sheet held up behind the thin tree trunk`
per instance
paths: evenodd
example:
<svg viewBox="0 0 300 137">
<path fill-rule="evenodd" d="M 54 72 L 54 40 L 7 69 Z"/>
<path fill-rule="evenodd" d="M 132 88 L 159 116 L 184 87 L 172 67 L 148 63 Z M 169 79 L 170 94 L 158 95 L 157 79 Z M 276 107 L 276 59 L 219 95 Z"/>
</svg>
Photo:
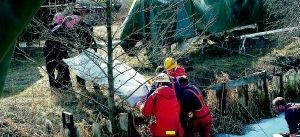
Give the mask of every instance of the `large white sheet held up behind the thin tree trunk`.
<svg viewBox="0 0 300 137">
<path fill-rule="evenodd" d="M 87 49 L 79 55 L 63 61 L 79 77 L 100 85 L 108 85 L 107 57 L 102 57 L 92 49 Z M 122 99 L 126 99 L 130 106 L 135 106 L 149 91 L 146 79 L 133 68 L 118 60 L 114 60 L 113 68 L 115 93 Z"/>
</svg>

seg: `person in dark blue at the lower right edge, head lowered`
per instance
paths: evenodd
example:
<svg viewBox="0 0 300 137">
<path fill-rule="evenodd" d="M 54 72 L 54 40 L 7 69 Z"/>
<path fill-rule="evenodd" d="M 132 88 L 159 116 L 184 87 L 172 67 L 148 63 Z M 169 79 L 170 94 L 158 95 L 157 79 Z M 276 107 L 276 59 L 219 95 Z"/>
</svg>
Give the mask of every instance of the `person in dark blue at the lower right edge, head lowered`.
<svg viewBox="0 0 300 137">
<path fill-rule="evenodd" d="M 296 137 L 300 124 L 300 105 L 286 103 L 283 97 L 277 97 L 272 101 L 273 108 L 278 112 L 284 112 L 285 120 L 289 126 L 289 136 Z"/>
</svg>

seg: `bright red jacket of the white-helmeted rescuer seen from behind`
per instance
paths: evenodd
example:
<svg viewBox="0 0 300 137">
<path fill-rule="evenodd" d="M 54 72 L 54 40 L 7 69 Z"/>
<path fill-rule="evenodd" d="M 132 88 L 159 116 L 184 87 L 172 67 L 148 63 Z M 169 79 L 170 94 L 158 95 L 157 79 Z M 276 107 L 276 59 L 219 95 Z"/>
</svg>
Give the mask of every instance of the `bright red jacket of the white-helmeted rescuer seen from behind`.
<svg viewBox="0 0 300 137">
<path fill-rule="evenodd" d="M 179 120 L 180 106 L 170 87 L 161 86 L 156 89 L 146 100 L 141 111 L 146 117 L 155 117 L 155 121 L 150 123 L 152 136 L 183 136 Z"/>
</svg>

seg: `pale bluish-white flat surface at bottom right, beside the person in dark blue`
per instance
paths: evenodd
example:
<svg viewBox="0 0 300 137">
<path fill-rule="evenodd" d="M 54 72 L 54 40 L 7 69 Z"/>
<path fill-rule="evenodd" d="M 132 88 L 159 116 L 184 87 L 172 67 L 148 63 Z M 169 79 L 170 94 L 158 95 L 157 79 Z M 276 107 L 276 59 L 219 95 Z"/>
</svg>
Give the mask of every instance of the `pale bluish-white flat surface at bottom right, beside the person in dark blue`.
<svg viewBox="0 0 300 137">
<path fill-rule="evenodd" d="M 273 134 L 286 133 L 288 131 L 284 114 L 280 114 L 275 118 L 263 119 L 258 124 L 245 126 L 244 135 L 217 134 L 216 137 L 272 137 Z"/>
</svg>

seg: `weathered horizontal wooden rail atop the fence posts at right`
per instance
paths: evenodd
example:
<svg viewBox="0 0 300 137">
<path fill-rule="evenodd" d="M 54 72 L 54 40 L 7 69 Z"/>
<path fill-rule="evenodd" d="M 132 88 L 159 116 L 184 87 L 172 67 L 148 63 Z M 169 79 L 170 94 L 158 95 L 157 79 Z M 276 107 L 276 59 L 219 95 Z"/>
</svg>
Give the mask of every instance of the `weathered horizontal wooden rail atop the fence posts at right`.
<svg viewBox="0 0 300 137">
<path fill-rule="evenodd" d="M 230 81 L 226 82 L 226 89 L 230 90 L 230 89 L 234 89 L 239 86 L 248 85 L 250 83 L 256 83 L 258 80 L 262 80 L 264 77 L 265 77 L 265 71 L 262 71 L 262 72 L 257 72 L 257 73 L 251 74 L 247 77 L 242 77 L 237 80 L 230 80 Z M 211 86 L 207 87 L 207 89 L 221 91 L 222 83 L 211 85 Z"/>
</svg>

